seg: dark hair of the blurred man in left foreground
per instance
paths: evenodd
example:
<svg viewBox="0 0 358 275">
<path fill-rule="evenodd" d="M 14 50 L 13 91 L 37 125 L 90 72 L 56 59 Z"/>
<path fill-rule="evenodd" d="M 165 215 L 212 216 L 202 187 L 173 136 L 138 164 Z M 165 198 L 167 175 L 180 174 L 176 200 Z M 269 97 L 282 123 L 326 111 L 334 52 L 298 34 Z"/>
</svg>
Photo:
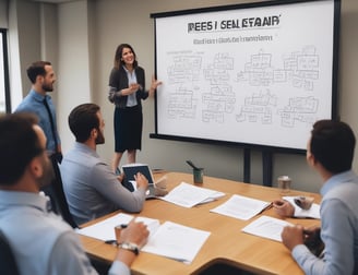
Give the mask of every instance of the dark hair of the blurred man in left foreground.
<svg viewBox="0 0 358 275">
<path fill-rule="evenodd" d="M 33 113 L 16 112 L 0 117 L 0 186 L 14 184 L 26 166 L 44 152 L 34 130 Z"/>
</svg>

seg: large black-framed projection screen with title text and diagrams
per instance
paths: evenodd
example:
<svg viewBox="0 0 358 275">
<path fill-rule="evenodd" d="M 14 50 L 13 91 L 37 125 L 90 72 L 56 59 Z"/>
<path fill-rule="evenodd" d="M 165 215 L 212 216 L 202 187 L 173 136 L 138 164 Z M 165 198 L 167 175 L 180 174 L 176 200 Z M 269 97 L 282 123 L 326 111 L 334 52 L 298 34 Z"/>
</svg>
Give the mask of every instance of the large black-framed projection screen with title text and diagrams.
<svg viewBox="0 0 358 275">
<path fill-rule="evenodd" d="M 266 1 L 151 14 L 151 138 L 306 150 L 335 119 L 341 2 Z"/>
</svg>

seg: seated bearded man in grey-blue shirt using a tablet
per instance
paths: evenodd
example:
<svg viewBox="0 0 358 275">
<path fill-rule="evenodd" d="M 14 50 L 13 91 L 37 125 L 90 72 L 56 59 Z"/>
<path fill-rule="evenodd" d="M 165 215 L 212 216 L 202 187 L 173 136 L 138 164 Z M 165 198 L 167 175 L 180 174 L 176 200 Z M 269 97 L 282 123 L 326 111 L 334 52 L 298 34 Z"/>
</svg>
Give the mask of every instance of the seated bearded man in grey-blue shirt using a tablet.
<svg viewBox="0 0 358 275">
<path fill-rule="evenodd" d="M 117 210 L 140 212 L 145 201 L 147 179 L 138 174 L 138 189 L 130 192 L 96 153 L 97 144 L 105 143 L 105 122 L 99 106 L 82 104 L 75 107 L 69 116 L 69 125 L 75 144 L 63 157 L 60 171 L 75 223 L 81 225 Z"/>
</svg>

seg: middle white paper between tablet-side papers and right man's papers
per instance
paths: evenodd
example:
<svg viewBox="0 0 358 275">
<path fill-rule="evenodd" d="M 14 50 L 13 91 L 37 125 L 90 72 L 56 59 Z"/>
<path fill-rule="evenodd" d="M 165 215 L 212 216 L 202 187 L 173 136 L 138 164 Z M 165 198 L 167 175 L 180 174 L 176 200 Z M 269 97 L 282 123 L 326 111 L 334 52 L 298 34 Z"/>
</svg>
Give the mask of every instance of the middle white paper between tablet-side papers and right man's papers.
<svg viewBox="0 0 358 275">
<path fill-rule="evenodd" d="M 268 202 L 235 194 L 211 212 L 247 220 L 261 213 L 268 205 L 271 205 Z"/>
</svg>

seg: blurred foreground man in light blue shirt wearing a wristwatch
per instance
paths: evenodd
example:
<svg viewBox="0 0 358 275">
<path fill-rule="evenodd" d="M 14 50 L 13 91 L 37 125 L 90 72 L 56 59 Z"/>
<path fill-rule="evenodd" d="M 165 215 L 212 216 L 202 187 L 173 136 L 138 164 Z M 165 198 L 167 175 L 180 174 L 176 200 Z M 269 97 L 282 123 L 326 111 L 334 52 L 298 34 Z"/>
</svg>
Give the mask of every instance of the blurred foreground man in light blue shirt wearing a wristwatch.
<svg viewBox="0 0 358 275">
<path fill-rule="evenodd" d="M 36 119 L 25 113 L 0 117 L 0 231 L 20 274 L 97 274 L 76 234 L 39 193 L 53 172 Z M 147 237 L 143 223 L 131 222 L 118 241 L 140 249 Z M 129 275 L 136 254 L 138 250 L 120 247 L 109 274 Z"/>
</svg>

